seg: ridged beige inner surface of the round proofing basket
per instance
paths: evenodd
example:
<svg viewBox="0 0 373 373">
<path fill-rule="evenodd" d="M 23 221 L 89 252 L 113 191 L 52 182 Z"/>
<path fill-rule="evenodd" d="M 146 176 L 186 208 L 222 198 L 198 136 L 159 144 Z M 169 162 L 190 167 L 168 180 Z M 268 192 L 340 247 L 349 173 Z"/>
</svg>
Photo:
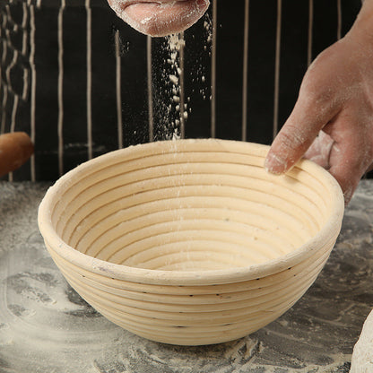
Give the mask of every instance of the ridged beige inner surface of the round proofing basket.
<svg viewBox="0 0 373 373">
<path fill-rule="evenodd" d="M 307 168 L 268 174 L 266 147 L 148 145 L 99 159 L 65 182 L 51 213 L 65 243 L 117 265 L 220 270 L 285 256 L 328 218 L 324 181 Z"/>
</svg>

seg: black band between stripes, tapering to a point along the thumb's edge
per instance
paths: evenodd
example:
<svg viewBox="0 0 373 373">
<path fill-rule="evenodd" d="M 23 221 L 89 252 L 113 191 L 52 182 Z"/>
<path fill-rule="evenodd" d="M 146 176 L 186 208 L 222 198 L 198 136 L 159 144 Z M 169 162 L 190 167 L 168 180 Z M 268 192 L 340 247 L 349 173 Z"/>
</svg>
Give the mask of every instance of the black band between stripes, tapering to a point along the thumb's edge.
<svg viewBox="0 0 373 373">
<path fill-rule="evenodd" d="M 291 25 L 291 27 L 289 27 Z M 290 116 L 308 64 L 308 1 L 282 2 L 279 129 Z"/>
</svg>

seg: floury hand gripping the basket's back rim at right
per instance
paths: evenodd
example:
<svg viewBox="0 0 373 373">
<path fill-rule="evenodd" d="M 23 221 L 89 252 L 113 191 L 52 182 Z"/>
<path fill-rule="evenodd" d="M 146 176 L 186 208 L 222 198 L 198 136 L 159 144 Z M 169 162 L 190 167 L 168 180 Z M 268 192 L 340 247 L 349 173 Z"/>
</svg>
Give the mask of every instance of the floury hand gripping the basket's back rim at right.
<svg viewBox="0 0 373 373">
<path fill-rule="evenodd" d="M 265 160 L 268 171 L 282 174 L 306 155 L 336 178 L 346 204 L 373 162 L 372 14 L 366 0 L 350 32 L 309 66 Z"/>
</svg>

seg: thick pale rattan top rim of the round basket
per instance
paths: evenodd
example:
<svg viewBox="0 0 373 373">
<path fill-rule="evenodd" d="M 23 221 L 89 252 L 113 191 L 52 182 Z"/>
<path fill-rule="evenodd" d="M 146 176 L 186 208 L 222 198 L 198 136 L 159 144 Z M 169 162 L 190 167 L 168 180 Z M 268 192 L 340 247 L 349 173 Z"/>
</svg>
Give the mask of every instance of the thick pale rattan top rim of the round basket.
<svg viewBox="0 0 373 373">
<path fill-rule="evenodd" d="M 236 152 L 236 150 L 237 152 L 240 150 L 247 152 L 248 150 L 250 154 L 260 157 L 263 160 L 263 164 L 265 155 L 269 150 L 269 147 L 266 145 L 230 140 L 178 140 L 176 142 L 167 141 L 136 145 L 115 152 L 109 152 L 93 160 L 82 163 L 77 168 L 67 172 L 62 178 L 59 178 L 55 185 L 48 189 L 47 194 L 39 205 L 39 230 L 48 243 L 47 246 L 53 247 L 56 254 L 63 257 L 68 262 L 108 278 L 144 284 L 177 286 L 201 284 L 212 285 L 244 282 L 286 270 L 291 266 L 297 265 L 301 261 L 306 260 L 309 256 L 315 255 L 318 250 L 322 250 L 325 247 L 325 244 L 329 242 L 331 238 L 336 237 L 338 234 L 341 228 L 344 211 L 342 190 L 336 180 L 325 169 L 322 169 L 317 166 L 317 164 L 308 160 L 300 160 L 291 172 L 297 172 L 297 169 L 302 169 L 310 175 L 315 176 L 318 181 L 321 181 L 324 184 L 324 186 L 330 191 L 330 199 L 328 199 L 329 216 L 326 219 L 324 226 L 313 238 L 309 239 L 305 244 L 291 253 L 269 260 L 265 262 L 265 264 L 213 271 L 183 272 L 147 270 L 126 265 L 117 265 L 82 254 L 74 249 L 74 247 L 67 245 L 56 233 L 51 221 L 53 204 L 61 195 L 61 190 L 69 188 L 74 185 L 74 183 L 79 182 L 79 178 L 84 176 L 87 172 L 91 173 L 91 169 L 97 171 L 108 164 L 121 162 L 126 159 L 126 157 L 134 158 L 134 154 L 136 154 L 137 157 L 141 157 L 143 153 L 162 154 L 164 152 L 175 151 L 176 149 L 178 151 L 184 151 L 188 147 L 193 147 L 195 145 L 205 148 L 206 151 L 212 147 L 216 150 L 216 146 L 221 148 L 220 151 L 227 152 L 233 152 L 231 150 L 232 148 L 235 149 L 234 152 Z"/>
</svg>

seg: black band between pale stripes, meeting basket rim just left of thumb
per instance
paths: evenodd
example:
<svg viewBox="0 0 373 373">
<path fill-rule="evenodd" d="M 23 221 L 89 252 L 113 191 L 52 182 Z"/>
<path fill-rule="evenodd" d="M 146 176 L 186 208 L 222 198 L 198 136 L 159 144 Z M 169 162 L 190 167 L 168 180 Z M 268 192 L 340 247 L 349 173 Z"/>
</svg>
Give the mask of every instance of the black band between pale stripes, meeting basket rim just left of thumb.
<svg viewBox="0 0 373 373">
<path fill-rule="evenodd" d="M 271 143 L 277 1 L 251 1 L 249 13 L 247 141 Z"/>
</svg>

